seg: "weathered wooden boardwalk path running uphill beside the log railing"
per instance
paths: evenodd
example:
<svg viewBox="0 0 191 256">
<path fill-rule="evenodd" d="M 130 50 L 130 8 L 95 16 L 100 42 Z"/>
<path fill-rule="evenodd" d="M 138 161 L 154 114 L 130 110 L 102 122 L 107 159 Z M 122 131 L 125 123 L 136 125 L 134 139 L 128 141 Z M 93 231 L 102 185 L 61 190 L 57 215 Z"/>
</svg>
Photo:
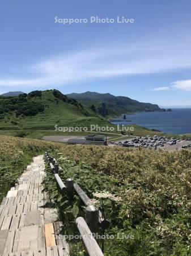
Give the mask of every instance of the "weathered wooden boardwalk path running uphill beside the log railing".
<svg viewBox="0 0 191 256">
<path fill-rule="evenodd" d="M 0 206 L 0 255 L 66 256 L 69 246 L 59 236 L 62 223 L 56 209 L 49 208 L 41 183 L 43 155 L 33 163 L 12 187 Z"/>
</svg>

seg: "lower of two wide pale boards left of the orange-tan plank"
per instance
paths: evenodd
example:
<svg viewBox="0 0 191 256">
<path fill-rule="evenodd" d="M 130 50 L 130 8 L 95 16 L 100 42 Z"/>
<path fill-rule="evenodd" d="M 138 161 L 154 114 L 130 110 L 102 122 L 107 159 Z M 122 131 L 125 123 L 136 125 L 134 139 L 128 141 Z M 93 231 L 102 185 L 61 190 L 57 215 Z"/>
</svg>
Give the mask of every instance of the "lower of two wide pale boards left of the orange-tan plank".
<svg viewBox="0 0 191 256">
<path fill-rule="evenodd" d="M 24 226 L 20 229 L 17 251 L 37 249 L 39 226 Z"/>
</svg>

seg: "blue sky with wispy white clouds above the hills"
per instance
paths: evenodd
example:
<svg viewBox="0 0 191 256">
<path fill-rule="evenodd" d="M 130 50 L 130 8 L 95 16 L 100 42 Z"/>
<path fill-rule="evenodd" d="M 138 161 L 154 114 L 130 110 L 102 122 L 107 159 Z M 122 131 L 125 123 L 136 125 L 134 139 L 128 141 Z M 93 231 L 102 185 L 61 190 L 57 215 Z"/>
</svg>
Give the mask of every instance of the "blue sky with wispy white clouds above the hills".
<svg viewBox="0 0 191 256">
<path fill-rule="evenodd" d="M 0 93 L 90 90 L 191 107 L 190 10 L 189 0 L 2 0 Z"/>
</svg>

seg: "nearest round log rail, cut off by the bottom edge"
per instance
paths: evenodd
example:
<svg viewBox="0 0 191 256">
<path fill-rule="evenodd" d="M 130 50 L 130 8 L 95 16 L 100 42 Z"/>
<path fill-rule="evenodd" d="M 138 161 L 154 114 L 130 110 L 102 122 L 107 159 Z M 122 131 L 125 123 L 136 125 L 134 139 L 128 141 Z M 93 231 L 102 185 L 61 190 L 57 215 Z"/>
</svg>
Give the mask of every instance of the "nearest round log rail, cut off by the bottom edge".
<svg viewBox="0 0 191 256">
<path fill-rule="evenodd" d="M 79 230 L 79 233 L 82 236 L 82 240 L 84 245 L 86 246 L 86 250 L 90 256 L 104 256 L 99 245 L 97 244 L 94 236 L 92 235 L 90 229 L 84 218 L 78 217 L 76 220 L 76 224 Z"/>
</svg>

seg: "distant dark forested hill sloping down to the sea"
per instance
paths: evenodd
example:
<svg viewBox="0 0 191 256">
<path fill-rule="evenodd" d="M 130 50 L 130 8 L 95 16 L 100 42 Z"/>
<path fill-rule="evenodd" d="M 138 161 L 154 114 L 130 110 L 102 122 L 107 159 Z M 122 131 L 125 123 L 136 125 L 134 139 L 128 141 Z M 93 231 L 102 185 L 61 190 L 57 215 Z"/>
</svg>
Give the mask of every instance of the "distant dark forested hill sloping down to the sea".
<svg viewBox="0 0 191 256">
<path fill-rule="evenodd" d="M 85 92 L 71 93 L 67 94 L 67 96 L 92 109 L 95 107 L 94 111 L 105 117 L 114 117 L 133 112 L 163 111 L 156 104 L 143 103 L 131 100 L 128 97 L 113 96 L 110 93 Z"/>
</svg>

